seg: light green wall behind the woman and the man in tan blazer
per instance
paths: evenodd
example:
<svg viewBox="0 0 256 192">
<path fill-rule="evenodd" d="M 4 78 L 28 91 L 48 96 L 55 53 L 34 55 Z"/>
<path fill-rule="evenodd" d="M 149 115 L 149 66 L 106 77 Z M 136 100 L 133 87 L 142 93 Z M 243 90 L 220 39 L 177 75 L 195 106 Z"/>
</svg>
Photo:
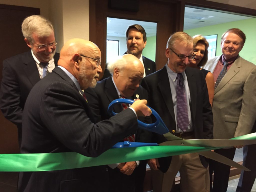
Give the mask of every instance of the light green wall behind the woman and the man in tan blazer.
<svg viewBox="0 0 256 192">
<path fill-rule="evenodd" d="M 216 56 L 221 55 L 220 41 L 222 34 L 230 28 L 239 28 L 246 35 L 246 42 L 243 49 L 240 51 L 240 56 L 244 59 L 254 63 L 256 65 L 256 18 L 244 19 L 236 22 L 222 23 L 218 25 L 211 25 L 207 27 L 200 27 L 196 29 L 185 30 L 191 36 L 201 34 L 206 35 L 218 35 L 217 37 L 217 49 Z"/>
</svg>

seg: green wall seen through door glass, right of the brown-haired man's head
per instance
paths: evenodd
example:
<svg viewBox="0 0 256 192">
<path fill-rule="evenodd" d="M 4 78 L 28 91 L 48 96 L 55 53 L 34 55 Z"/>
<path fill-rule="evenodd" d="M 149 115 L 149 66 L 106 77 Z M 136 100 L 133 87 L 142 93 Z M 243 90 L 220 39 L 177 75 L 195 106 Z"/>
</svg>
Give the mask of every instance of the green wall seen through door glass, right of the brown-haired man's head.
<svg viewBox="0 0 256 192">
<path fill-rule="evenodd" d="M 156 36 L 147 37 L 147 44 L 143 49 L 142 55 L 153 61 L 156 60 Z"/>
</svg>

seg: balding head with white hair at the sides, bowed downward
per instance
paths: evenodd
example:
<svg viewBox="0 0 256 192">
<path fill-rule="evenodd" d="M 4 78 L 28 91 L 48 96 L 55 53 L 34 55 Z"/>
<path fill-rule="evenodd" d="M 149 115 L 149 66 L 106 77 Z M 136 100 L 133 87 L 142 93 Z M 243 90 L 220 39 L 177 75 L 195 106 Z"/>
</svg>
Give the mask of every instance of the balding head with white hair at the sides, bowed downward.
<svg viewBox="0 0 256 192">
<path fill-rule="evenodd" d="M 141 61 L 131 54 L 125 54 L 109 63 L 108 70 L 123 97 L 131 97 L 134 94 L 144 74 Z"/>
</svg>

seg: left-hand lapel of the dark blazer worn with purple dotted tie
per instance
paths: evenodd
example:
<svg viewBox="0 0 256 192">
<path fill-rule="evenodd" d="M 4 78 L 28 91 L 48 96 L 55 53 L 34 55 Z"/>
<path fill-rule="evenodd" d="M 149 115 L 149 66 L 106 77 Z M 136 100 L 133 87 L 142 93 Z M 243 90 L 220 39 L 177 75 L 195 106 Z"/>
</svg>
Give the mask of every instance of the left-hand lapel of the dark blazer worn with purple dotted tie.
<svg viewBox="0 0 256 192">
<path fill-rule="evenodd" d="M 173 110 L 173 100 L 172 100 L 172 92 L 170 89 L 170 82 L 166 70 L 166 65 L 164 68 L 162 68 L 159 72 L 159 82 L 158 82 L 158 87 L 159 90 L 163 96 L 163 100 L 170 112 L 170 115 L 172 116 L 173 120 L 175 121 L 175 114 Z"/>
</svg>

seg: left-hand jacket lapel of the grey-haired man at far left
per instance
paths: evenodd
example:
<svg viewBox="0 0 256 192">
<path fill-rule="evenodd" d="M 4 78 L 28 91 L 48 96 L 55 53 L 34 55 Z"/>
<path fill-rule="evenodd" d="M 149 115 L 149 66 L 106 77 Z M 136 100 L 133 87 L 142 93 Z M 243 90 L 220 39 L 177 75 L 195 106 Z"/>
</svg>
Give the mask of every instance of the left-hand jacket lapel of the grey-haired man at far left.
<svg viewBox="0 0 256 192">
<path fill-rule="evenodd" d="M 34 60 L 31 50 L 27 52 L 27 56 L 24 59 L 24 71 L 27 74 L 27 78 L 31 82 L 31 84 L 34 86 L 39 80 L 39 72 L 37 69 L 36 61 Z"/>
</svg>

